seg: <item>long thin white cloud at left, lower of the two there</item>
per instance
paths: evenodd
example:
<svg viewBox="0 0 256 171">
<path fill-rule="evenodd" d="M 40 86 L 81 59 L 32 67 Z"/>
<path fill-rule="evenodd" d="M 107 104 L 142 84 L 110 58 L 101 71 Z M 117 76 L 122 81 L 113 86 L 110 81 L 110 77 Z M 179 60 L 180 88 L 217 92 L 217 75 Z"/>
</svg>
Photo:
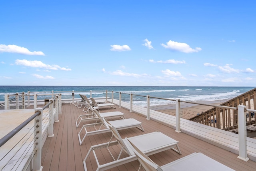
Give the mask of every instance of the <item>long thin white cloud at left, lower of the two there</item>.
<svg viewBox="0 0 256 171">
<path fill-rule="evenodd" d="M 16 60 L 15 61 L 16 65 L 22 65 L 22 66 L 29 66 L 33 68 L 45 68 L 48 70 L 65 70 L 65 71 L 71 71 L 70 68 L 62 68 L 58 65 L 49 65 L 49 64 L 44 64 L 41 61 L 28 61 L 28 60 Z"/>
</svg>

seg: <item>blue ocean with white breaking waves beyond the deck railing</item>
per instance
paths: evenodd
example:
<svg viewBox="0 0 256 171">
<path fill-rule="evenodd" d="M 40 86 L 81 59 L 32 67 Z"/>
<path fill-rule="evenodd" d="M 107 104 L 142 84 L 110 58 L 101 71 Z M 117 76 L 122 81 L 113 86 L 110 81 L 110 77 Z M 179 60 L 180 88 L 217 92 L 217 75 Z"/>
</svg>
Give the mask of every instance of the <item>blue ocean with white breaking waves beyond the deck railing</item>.
<svg viewBox="0 0 256 171">
<path fill-rule="evenodd" d="M 62 93 L 62 99 L 72 98 L 72 90 L 75 92 L 75 98 L 80 98 L 79 93 L 92 97 L 111 96 L 111 92 L 132 93 L 133 103 L 140 106 L 146 106 L 146 95 L 150 97 L 161 97 L 168 99 L 179 98 L 183 101 L 220 101 L 232 99 L 255 87 L 164 87 L 164 86 L 0 86 L 0 101 L 4 101 L 4 94 L 14 94 L 28 91 L 51 93 L 52 90 Z M 137 96 L 138 95 L 138 96 Z M 45 97 L 41 97 L 45 98 Z M 119 93 L 114 93 L 114 98 L 119 99 Z M 40 99 L 40 96 L 39 96 Z M 130 101 L 130 95 L 122 94 L 122 101 Z M 172 101 L 163 101 L 161 99 L 151 99 L 150 105 L 166 105 L 174 103 Z"/>
</svg>

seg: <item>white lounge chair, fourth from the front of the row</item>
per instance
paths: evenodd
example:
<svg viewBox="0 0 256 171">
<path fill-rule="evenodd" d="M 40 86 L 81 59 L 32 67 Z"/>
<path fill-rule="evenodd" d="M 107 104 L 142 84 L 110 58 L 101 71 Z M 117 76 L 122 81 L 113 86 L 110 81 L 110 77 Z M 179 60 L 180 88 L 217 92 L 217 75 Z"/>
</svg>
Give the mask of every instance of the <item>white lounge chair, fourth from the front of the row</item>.
<svg viewBox="0 0 256 171">
<path fill-rule="evenodd" d="M 96 122 L 98 121 L 98 116 L 94 113 L 95 107 L 90 106 L 90 104 L 86 101 L 86 104 L 88 105 L 89 109 L 92 111 L 92 113 L 88 113 L 88 114 L 84 114 L 84 115 L 79 115 L 78 118 L 76 119 L 76 127 L 78 128 L 78 126 L 80 125 L 80 123 L 82 121 L 85 120 L 95 120 Z M 90 108 L 91 107 L 91 108 Z M 124 117 L 124 113 L 120 112 L 120 111 L 112 111 L 112 112 L 105 112 L 105 113 L 100 113 L 101 117 L 116 117 L 119 116 L 122 119 L 125 119 Z"/>
</svg>

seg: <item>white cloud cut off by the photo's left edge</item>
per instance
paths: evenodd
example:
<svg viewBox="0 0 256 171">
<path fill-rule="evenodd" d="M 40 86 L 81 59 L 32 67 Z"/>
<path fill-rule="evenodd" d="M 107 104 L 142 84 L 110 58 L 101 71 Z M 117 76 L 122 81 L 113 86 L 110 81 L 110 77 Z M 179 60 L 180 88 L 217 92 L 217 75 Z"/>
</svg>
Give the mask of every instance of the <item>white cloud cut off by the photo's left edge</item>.
<svg viewBox="0 0 256 171">
<path fill-rule="evenodd" d="M 41 51 L 34 51 L 30 52 L 27 48 L 23 48 L 16 45 L 5 45 L 0 44 L 0 52 L 8 52 L 8 53 L 16 53 L 16 54 L 24 54 L 24 55 L 42 55 L 44 56 L 44 53 Z"/>
</svg>

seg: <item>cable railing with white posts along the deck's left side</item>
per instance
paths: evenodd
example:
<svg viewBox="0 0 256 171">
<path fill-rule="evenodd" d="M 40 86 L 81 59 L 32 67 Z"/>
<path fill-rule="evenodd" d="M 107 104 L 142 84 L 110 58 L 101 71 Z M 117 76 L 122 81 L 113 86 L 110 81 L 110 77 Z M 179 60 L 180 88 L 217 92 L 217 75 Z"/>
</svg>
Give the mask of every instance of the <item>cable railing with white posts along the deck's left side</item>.
<svg viewBox="0 0 256 171">
<path fill-rule="evenodd" d="M 61 111 L 60 96 L 35 108 L 34 114 L 0 139 L 0 170 L 42 170 L 41 150 L 46 138 L 53 136 L 53 124 Z M 13 117 L 17 115 L 14 113 Z"/>
</svg>

